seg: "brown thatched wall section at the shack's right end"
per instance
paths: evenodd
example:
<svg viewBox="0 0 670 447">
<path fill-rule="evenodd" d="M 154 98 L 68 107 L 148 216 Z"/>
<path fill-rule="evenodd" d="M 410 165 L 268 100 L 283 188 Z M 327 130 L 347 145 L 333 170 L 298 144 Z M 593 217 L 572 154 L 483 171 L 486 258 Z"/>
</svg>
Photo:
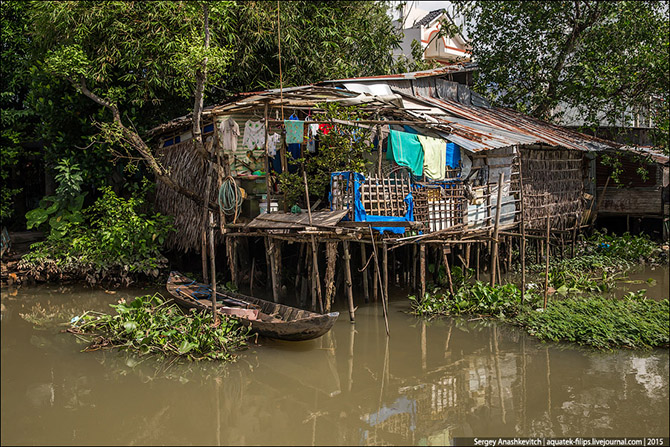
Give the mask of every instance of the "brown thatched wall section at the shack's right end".
<svg viewBox="0 0 670 447">
<path fill-rule="evenodd" d="M 568 229 L 584 213 L 584 154 L 566 149 L 522 149 L 526 228 Z"/>
</svg>

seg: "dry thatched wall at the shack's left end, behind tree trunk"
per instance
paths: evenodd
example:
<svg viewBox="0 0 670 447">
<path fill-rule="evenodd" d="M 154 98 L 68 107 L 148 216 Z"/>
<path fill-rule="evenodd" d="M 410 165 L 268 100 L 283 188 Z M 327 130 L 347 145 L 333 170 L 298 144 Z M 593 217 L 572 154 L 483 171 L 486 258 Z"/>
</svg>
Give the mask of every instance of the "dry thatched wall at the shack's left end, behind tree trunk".
<svg viewBox="0 0 670 447">
<path fill-rule="evenodd" d="M 170 170 L 170 176 L 183 187 L 190 189 L 200 196 L 205 195 L 206 177 L 205 163 L 197 156 L 193 147 L 193 140 L 177 143 L 157 151 L 159 162 Z M 209 200 L 216 201 L 216 176 L 212 179 L 212 188 Z M 158 182 L 156 185 L 156 208 L 160 213 L 174 217 L 174 226 L 177 231 L 170 232 L 166 239 L 169 249 L 183 252 L 194 250 L 200 252 L 201 232 L 203 226 L 203 209 L 191 199 L 173 191 Z M 218 225 L 218 215 L 215 213 L 214 223 Z M 221 233 L 215 231 L 218 242 L 222 242 Z"/>
</svg>

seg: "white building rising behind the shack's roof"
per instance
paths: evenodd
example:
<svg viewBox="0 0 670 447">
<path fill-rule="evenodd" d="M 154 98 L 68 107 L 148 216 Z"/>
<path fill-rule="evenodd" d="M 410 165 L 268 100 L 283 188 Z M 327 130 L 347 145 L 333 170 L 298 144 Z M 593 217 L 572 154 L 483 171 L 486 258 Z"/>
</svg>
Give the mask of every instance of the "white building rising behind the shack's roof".
<svg viewBox="0 0 670 447">
<path fill-rule="evenodd" d="M 404 33 L 400 49 L 395 56 L 404 54 L 412 57 L 412 41 L 421 43 L 424 60 L 434 60 L 441 64 L 470 61 L 469 46 L 462 35 L 454 37 L 440 36 L 443 21 L 453 23 L 445 8 L 425 11 L 417 7 L 408 7 L 400 11 L 396 26 Z"/>
</svg>

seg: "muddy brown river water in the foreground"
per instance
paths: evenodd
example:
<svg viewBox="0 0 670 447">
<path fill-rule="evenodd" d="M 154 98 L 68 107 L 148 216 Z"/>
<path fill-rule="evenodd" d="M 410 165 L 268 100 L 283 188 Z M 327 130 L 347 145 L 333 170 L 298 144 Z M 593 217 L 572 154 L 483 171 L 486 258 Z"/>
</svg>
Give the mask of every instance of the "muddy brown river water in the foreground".
<svg viewBox="0 0 670 447">
<path fill-rule="evenodd" d="M 667 298 L 668 270 L 644 287 Z M 668 350 L 595 352 L 504 324 L 345 309 L 308 342 L 258 340 L 226 365 L 82 353 L 54 323 L 153 292 L 2 291 L 3 445 L 445 445 L 460 436 L 663 436 Z M 357 297 L 358 298 L 358 297 Z M 358 304 L 358 300 L 357 300 Z M 110 309 L 111 310 L 111 309 Z"/>
</svg>

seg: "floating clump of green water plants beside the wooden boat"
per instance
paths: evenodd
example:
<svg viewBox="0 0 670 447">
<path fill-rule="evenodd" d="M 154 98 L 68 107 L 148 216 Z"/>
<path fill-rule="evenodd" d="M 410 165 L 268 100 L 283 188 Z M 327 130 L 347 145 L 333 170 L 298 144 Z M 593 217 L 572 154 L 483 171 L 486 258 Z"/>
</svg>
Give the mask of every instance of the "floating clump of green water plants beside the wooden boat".
<svg viewBox="0 0 670 447">
<path fill-rule="evenodd" d="M 68 332 L 93 335 L 84 337 L 90 343 L 85 351 L 121 348 L 140 355 L 231 361 L 246 346 L 248 329 L 238 320 L 222 316 L 213 327 L 210 313 L 184 313 L 158 293 L 110 306 L 116 315 L 89 311 L 72 319 Z"/>
</svg>

